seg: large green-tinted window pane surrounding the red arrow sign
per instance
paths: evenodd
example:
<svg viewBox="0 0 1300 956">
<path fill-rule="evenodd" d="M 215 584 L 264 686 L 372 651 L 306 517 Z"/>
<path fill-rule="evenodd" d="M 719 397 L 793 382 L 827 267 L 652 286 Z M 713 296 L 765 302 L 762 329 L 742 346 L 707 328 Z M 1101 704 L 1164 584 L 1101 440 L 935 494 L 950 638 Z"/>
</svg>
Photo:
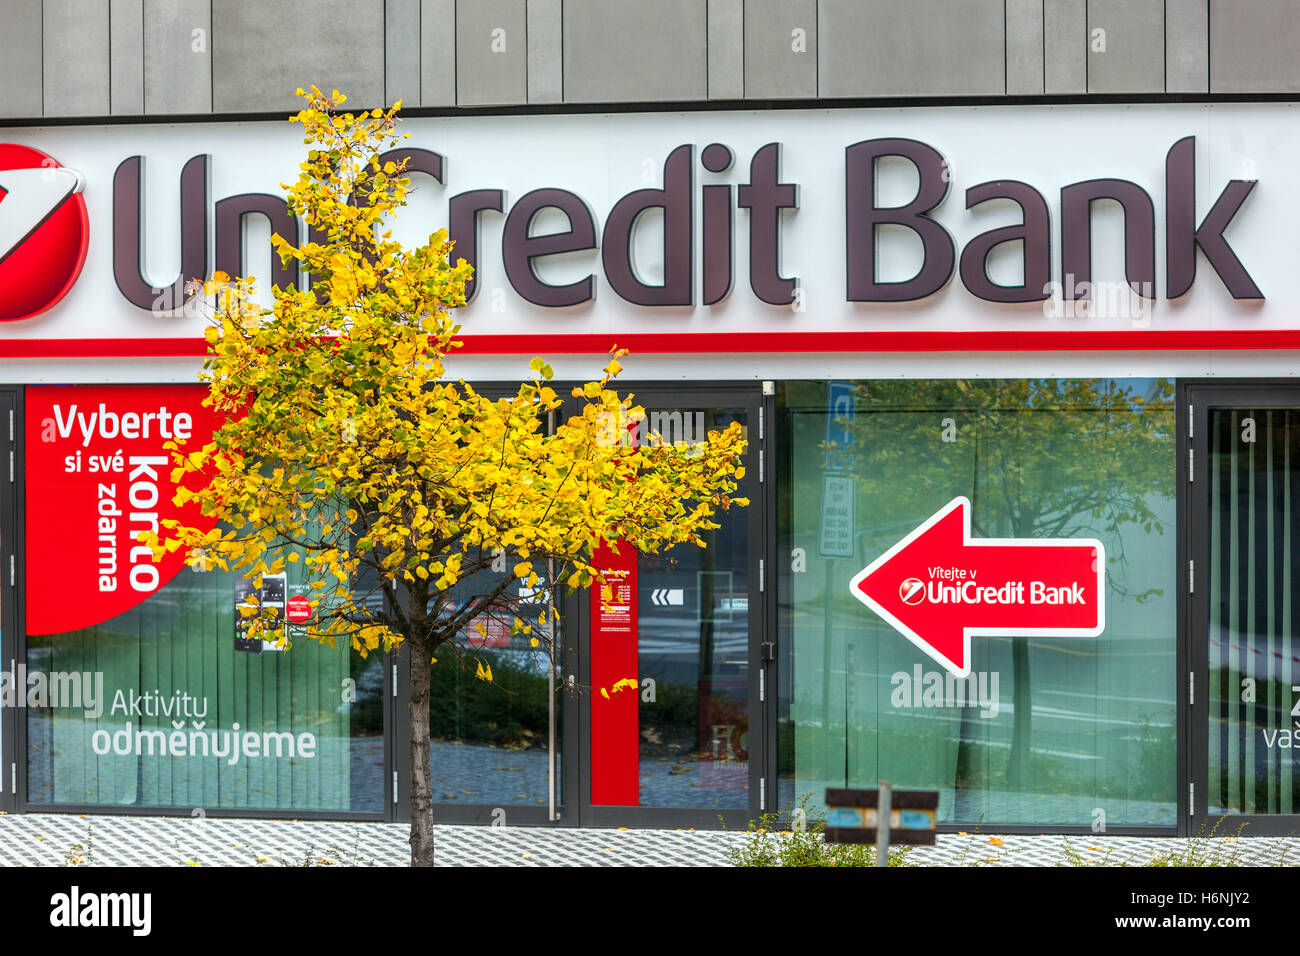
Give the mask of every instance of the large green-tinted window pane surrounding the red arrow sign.
<svg viewBox="0 0 1300 956">
<path fill-rule="evenodd" d="M 940 819 L 1175 825 L 1175 434 L 1165 380 L 779 392 L 780 799 L 940 791 Z M 971 641 L 946 674 L 850 579 L 957 496 L 971 535 L 1097 538 L 1098 637 Z"/>
</svg>

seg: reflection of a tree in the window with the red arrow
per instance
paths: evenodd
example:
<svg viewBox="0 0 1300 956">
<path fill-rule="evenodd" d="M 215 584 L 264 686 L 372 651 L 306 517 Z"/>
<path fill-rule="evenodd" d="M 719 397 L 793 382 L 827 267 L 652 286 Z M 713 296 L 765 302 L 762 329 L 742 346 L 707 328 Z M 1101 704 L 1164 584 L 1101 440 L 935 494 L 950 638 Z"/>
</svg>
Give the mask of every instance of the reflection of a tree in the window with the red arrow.
<svg viewBox="0 0 1300 956">
<path fill-rule="evenodd" d="M 852 441 L 840 454 L 854 472 L 866 554 L 966 494 L 975 537 L 1098 537 L 1112 596 L 1158 596 L 1130 588 L 1123 528 L 1164 533 L 1153 505 L 1174 496 L 1173 398 L 1167 380 L 859 384 L 855 414 L 836 424 Z M 1028 639 L 1011 645 L 1008 787 L 1018 791 L 1030 753 Z"/>
</svg>

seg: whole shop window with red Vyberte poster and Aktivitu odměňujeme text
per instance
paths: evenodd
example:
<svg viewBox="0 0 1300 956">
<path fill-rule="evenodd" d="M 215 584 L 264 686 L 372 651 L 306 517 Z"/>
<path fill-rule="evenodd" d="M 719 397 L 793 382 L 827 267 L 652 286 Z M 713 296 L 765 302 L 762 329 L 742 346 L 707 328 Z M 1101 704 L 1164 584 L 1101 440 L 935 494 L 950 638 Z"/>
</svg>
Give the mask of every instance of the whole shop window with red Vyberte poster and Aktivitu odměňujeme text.
<svg viewBox="0 0 1300 956">
<path fill-rule="evenodd" d="M 382 657 L 292 640 L 287 620 L 250 639 L 254 581 L 139 546 L 176 514 L 165 441 L 212 432 L 203 394 L 26 390 L 27 800 L 382 813 Z M 283 607 L 303 575 L 265 576 L 260 604 Z"/>
</svg>

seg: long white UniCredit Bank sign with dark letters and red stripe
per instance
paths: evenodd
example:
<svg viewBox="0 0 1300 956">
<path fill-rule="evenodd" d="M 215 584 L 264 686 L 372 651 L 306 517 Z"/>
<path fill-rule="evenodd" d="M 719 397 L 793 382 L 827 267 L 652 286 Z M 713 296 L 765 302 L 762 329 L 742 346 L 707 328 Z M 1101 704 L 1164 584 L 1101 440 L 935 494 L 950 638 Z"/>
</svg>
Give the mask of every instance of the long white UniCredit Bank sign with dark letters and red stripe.
<svg viewBox="0 0 1300 956">
<path fill-rule="evenodd" d="M 546 349 L 538 337 L 552 351 L 616 338 L 725 352 L 1296 347 L 1288 333 L 1300 336 L 1291 104 L 403 129 L 396 152 L 417 191 L 395 234 L 419 243 L 446 225 L 474 264 L 468 351 Z M 306 235 L 281 198 L 306 148 L 286 122 L 4 138 L 0 354 L 95 354 L 87 342 L 200 354 L 187 280 L 220 269 L 302 282 L 269 243 Z M 48 187 L 39 164 L 14 173 L 14 156 L 57 157 Z"/>
</svg>

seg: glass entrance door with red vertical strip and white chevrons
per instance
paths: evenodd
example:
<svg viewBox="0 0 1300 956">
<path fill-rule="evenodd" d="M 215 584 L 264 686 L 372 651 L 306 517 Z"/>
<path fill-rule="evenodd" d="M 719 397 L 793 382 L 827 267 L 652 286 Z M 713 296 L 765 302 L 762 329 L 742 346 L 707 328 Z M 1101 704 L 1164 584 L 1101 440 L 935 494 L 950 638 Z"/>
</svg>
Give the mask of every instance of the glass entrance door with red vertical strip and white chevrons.
<svg viewBox="0 0 1300 956">
<path fill-rule="evenodd" d="M 749 446 L 736 494 L 750 503 L 719 515 L 703 549 L 624 544 L 610 555 L 612 604 L 593 594 L 584 607 L 581 822 L 744 826 L 767 791 L 762 397 L 757 384 L 633 392 L 646 431 L 667 441 L 740 421 Z"/>
</svg>

